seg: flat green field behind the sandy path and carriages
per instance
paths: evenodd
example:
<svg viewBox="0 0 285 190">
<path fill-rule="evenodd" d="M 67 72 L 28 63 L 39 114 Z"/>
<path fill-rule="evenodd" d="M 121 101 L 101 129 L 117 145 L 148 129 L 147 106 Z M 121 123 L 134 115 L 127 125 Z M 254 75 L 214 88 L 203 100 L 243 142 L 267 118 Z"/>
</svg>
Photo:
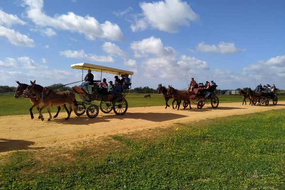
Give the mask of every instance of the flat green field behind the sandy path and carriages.
<svg viewBox="0 0 285 190">
<path fill-rule="evenodd" d="M 165 100 L 162 95 L 152 94 L 151 98 L 143 98 L 144 94 L 129 94 L 126 96 L 129 107 L 143 107 L 143 106 L 163 106 Z M 285 96 L 278 97 L 279 100 L 285 100 Z M 80 100 L 79 97 L 76 97 Z M 219 95 L 220 102 L 241 102 L 241 96 L 239 95 Z M 169 101 L 171 104 L 172 100 Z M 98 102 L 97 102 L 98 103 Z M 18 114 L 30 114 L 30 100 L 27 98 L 15 99 L 13 95 L 0 95 L 0 116 L 1 115 L 18 115 Z M 53 112 L 56 108 L 51 109 Z M 61 109 L 64 111 L 64 109 Z M 34 114 L 37 115 L 37 110 L 34 108 Z M 44 110 L 46 112 L 46 109 Z"/>
</svg>

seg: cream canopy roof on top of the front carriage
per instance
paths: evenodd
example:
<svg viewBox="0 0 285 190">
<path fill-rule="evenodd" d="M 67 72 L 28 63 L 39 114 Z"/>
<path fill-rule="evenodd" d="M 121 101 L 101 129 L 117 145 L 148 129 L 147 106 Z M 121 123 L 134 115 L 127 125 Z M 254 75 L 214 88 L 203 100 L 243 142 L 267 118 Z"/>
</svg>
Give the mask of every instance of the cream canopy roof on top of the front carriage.
<svg viewBox="0 0 285 190">
<path fill-rule="evenodd" d="M 133 71 L 126 71 L 126 70 L 121 70 L 121 69 L 116 69 L 116 68 L 101 66 L 101 65 L 96 65 L 96 64 L 90 64 L 90 63 L 75 63 L 71 65 L 71 68 L 82 69 L 82 70 L 90 69 L 92 71 L 111 73 L 115 75 L 125 75 L 125 74 L 134 75 Z"/>
</svg>

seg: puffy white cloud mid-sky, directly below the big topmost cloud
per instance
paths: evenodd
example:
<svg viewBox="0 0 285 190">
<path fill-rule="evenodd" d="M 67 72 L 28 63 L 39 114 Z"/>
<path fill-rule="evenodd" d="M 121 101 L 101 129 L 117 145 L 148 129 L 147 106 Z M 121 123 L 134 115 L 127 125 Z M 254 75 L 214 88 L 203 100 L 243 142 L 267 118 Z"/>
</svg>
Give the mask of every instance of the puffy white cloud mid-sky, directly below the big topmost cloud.
<svg viewBox="0 0 285 190">
<path fill-rule="evenodd" d="M 148 54 L 159 56 L 173 56 L 175 54 L 172 47 L 164 47 L 161 39 L 153 36 L 133 42 L 131 48 L 135 51 L 135 57 L 137 58 L 145 57 Z"/>
</svg>

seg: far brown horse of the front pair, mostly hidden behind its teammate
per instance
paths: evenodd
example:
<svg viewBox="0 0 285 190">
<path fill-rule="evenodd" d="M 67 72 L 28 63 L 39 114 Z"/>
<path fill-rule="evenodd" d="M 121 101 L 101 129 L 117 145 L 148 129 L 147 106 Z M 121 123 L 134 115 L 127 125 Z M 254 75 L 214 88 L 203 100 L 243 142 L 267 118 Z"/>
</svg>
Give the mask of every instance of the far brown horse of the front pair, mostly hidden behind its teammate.
<svg viewBox="0 0 285 190">
<path fill-rule="evenodd" d="M 19 81 L 16 81 L 16 83 L 18 84 L 18 87 L 16 88 L 14 96 L 15 96 L 15 98 L 19 98 L 23 95 L 24 90 L 26 90 L 26 88 L 29 85 L 24 84 L 24 83 L 20 83 Z M 30 107 L 30 118 L 33 119 L 34 115 L 33 115 L 32 109 L 34 107 L 36 107 L 39 111 L 39 109 L 40 109 L 39 105 L 41 103 L 41 98 L 30 97 L 30 102 L 32 103 L 32 106 Z M 63 105 L 63 107 L 65 108 L 66 112 L 69 113 L 65 104 Z M 60 106 L 58 106 L 58 112 L 53 116 L 53 118 L 56 118 L 59 115 L 59 112 L 60 112 Z M 41 119 L 41 115 L 39 115 L 38 119 Z"/>
</svg>

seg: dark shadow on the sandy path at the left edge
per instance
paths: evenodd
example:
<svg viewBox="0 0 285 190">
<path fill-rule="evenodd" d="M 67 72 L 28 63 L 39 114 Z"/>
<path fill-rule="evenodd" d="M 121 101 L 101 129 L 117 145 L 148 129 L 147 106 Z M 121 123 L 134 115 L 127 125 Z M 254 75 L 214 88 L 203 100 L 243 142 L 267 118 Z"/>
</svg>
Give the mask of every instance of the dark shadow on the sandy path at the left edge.
<svg viewBox="0 0 285 190">
<path fill-rule="evenodd" d="M 8 152 L 12 150 L 39 150 L 44 148 L 44 147 L 29 147 L 30 145 L 33 144 L 35 144 L 35 142 L 0 138 L 0 152 Z"/>
</svg>

